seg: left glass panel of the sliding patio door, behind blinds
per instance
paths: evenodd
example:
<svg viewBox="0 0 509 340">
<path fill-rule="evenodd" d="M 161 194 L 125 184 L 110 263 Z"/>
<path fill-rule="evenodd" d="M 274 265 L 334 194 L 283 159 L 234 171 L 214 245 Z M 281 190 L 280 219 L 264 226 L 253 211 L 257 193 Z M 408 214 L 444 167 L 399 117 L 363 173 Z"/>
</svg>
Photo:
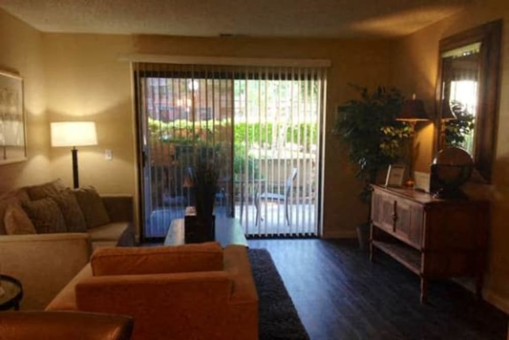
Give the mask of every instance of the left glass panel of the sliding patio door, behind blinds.
<svg viewBox="0 0 509 340">
<path fill-rule="evenodd" d="M 219 71 L 215 72 L 221 73 Z M 198 163 L 219 171 L 216 216 L 232 216 L 231 77 L 192 66 L 134 65 L 143 154 L 144 237 L 162 238 L 194 204 L 189 174 Z"/>
</svg>

